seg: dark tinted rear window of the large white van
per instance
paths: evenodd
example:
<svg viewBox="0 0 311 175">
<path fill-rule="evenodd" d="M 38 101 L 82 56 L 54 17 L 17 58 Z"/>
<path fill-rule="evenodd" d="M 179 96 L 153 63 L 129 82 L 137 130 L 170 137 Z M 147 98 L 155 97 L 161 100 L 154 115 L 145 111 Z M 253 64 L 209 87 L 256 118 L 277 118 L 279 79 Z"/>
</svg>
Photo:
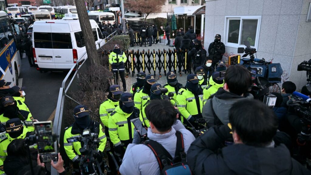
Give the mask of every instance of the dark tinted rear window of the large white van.
<svg viewBox="0 0 311 175">
<path fill-rule="evenodd" d="M 35 48 L 72 49 L 70 33 L 34 32 Z"/>
</svg>

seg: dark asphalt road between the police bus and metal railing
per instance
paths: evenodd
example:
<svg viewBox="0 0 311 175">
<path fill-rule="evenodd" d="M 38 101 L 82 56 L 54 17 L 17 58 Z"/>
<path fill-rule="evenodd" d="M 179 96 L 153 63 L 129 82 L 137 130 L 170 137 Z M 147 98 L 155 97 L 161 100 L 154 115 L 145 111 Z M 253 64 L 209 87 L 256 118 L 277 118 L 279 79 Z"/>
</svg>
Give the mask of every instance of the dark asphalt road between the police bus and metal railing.
<svg viewBox="0 0 311 175">
<path fill-rule="evenodd" d="M 57 105 L 59 88 L 67 72 L 40 73 L 29 66 L 28 59 L 21 60 L 22 86 L 26 87 L 26 103 L 35 119 L 47 121 Z M 21 82 L 21 81 L 20 81 Z"/>
</svg>

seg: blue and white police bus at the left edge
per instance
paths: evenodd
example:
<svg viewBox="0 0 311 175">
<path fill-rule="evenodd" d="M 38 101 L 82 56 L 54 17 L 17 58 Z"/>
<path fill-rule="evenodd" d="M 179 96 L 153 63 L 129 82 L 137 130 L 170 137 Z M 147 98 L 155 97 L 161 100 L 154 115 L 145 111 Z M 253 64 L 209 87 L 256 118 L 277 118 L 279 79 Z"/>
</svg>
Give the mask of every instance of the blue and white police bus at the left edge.
<svg viewBox="0 0 311 175">
<path fill-rule="evenodd" d="M 0 79 L 12 82 L 11 86 L 18 85 L 18 76 L 21 70 L 21 58 L 16 48 L 14 32 L 19 33 L 18 24 L 4 11 L 0 11 Z"/>
</svg>

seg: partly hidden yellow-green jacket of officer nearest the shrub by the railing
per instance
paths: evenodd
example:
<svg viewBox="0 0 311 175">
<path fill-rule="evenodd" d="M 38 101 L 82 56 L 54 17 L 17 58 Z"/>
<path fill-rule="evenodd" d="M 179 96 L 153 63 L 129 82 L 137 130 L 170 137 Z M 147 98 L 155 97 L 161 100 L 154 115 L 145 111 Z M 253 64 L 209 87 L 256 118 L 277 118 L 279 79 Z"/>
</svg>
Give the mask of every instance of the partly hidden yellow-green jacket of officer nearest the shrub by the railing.
<svg viewBox="0 0 311 175">
<path fill-rule="evenodd" d="M 116 108 L 117 106 L 119 106 L 119 101 L 114 102 L 110 99 L 106 99 L 104 102 L 100 104 L 99 107 L 100 120 L 107 128 L 109 128 L 108 127 L 109 115 L 114 111 L 114 108 Z"/>
</svg>

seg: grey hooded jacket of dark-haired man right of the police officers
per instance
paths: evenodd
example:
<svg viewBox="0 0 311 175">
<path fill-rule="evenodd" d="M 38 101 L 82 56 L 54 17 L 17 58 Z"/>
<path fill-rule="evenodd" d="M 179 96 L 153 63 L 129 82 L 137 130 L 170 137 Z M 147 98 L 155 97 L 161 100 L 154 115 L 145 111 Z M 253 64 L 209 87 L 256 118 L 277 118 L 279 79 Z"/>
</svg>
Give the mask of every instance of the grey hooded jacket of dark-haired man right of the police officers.
<svg viewBox="0 0 311 175">
<path fill-rule="evenodd" d="M 211 125 L 214 125 L 214 115 L 211 108 L 211 100 L 216 116 L 222 124 L 229 123 L 229 109 L 231 106 L 240 100 L 253 99 L 254 96 L 250 93 L 245 93 L 244 96 L 239 96 L 234 93 L 225 91 L 222 87 L 218 89 L 213 98 L 207 100 L 202 108 L 202 116 L 204 120 Z"/>
</svg>

